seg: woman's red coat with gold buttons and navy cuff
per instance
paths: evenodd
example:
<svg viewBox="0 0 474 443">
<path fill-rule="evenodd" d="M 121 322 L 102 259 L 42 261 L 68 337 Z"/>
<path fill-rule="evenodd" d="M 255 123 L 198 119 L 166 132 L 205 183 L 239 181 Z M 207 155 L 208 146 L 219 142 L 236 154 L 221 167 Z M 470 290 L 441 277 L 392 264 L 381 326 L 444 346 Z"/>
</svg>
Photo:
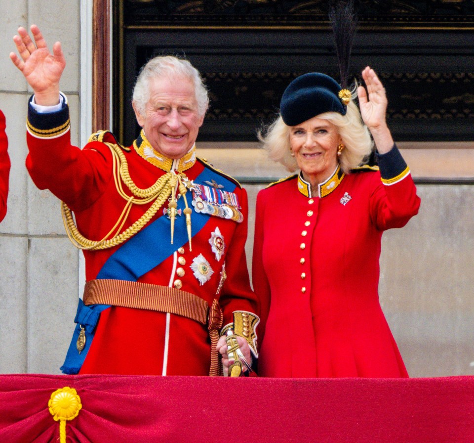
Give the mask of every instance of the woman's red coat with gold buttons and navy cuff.
<svg viewBox="0 0 474 443">
<path fill-rule="evenodd" d="M 379 304 L 379 257 L 383 231 L 404 226 L 420 199 L 396 147 L 378 159 L 383 180 L 338 167 L 316 196 L 301 175 L 259 192 L 259 375 L 408 376 Z"/>
</svg>

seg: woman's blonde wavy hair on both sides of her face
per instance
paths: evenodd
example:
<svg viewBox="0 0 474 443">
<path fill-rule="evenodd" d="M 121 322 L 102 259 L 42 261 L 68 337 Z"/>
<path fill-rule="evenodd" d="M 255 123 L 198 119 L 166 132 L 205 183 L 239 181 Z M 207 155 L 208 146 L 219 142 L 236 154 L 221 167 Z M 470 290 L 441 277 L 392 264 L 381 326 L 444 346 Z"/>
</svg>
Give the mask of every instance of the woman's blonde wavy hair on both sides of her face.
<svg viewBox="0 0 474 443">
<path fill-rule="evenodd" d="M 346 115 L 324 112 L 317 117 L 337 127 L 345 146 L 338 157 L 345 174 L 349 174 L 351 169 L 367 160 L 374 143 L 353 100 L 347 105 Z M 281 115 L 266 130 L 258 133 L 258 139 L 263 142 L 263 148 L 268 152 L 270 159 L 281 163 L 289 172 L 298 169 L 298 164 L 290 151 L 290 126 L 283 123 Z"/>
</svg>

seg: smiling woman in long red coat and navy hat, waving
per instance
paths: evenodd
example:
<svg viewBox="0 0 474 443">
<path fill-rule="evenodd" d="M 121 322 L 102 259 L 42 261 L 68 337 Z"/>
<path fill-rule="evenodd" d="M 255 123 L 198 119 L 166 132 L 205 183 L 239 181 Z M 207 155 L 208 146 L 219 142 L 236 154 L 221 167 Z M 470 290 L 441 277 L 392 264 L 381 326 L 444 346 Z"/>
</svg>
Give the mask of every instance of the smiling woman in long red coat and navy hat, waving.
<svg viewBox="0 0 474 443">
<path fill-rule="evenodd" d="M 379 257 L 383 231 L 404 226 L 420 199 L 386 124 L 385 89 L 369 67 L 362 77 L 360 112 L 330 77 L 298 77 L 262 136 L 273 160 L 300 172 L 257 196 L 259 375 L 408 376 L 379 303 Z M 374 142 L 375 167 L 364 164 Z"/>
</svg>

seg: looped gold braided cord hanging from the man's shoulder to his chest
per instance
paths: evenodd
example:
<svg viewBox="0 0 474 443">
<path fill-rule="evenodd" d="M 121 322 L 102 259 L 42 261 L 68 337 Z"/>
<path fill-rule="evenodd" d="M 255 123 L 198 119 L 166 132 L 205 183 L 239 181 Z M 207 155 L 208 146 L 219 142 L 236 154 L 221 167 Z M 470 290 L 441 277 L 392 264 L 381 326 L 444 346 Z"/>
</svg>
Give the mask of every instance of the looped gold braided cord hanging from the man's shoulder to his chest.
<svg viewBox="0 0 474 443">
<path fill-rule="evenodd" d="M 149 188 L 140 189 L 135 185 L 128 173 L 127 160 L 120 147 L 113 143 L 106 144 L 109 146 L 112 152 L 113 176 L 117 192 L 127 202 L 114 227 L 102 240 L 99 241 L 89 240 L 79 232 L 71 209 L 66 205 L 66 203 L 61 202 L 61 212 L 63 216 L 64 227 L 66 228 L 66 233 L 68 234 L 68 237 L 74 246 L 83 250 L 95 251 L 109 249 L 128 240 L 130 237 L 140 231 L 153 218 L 161 206 L 163 206 L 163 203 L 166 201 L 166 199 L 171 195 L 172 189 L 170 186 L 170 178 L 173 175 L 171 172 L 166 173 L 164 176 L 158 178 L 155 184 Z M 141 197 L 140 200 L 125 194 L 122 188 L 122 180 L 133 195 Z M 123 228 L 123 225 L 125 224 L 128 214 L 130 213 L 132 204 L 143 205 L 151 202 L 153 199 L 155 199 L 155 201 L 150 206 L 150 208 L 148 208 L 145 214 L 143 214 L 140 219 L 138 219 L 130 227 L 119 234 Z M 113 235 L 113 237 L 107 240 L 110 235 Z"/>
</svg>

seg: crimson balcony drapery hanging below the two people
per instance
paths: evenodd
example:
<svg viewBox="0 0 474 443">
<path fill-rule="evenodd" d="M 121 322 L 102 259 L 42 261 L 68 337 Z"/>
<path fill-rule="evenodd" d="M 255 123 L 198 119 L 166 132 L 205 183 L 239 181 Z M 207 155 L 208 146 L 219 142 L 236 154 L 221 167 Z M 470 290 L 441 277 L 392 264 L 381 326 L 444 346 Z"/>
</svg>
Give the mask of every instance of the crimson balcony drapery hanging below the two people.
<svg viewBox="0 0 474 443">
<path fill-rule="evenodd" d="M 59 442 L 51 394 L 74 388 L 67 442 L 474 442 L 474 377 L 0 376 L 0 442 Z"/>
</svg>

